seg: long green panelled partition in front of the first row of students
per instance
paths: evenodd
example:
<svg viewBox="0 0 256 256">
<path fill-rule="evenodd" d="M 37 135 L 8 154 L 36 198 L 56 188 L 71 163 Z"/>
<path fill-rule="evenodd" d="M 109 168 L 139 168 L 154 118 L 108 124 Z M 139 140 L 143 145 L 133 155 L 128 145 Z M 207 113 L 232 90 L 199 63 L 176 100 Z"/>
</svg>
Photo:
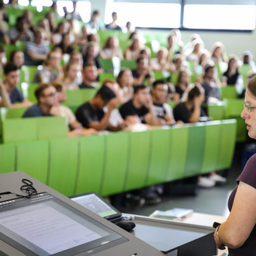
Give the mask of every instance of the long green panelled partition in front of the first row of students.
<svg viewBox="0 0 256 256">
<path fill-rule="evenodd" d="M 60 118 L 51 119 L 58 120 L 34 121 L 35 127 L 61 126 Z M 237 127 L 236 120 L 227 119 L 140 133 L 79 138 L 44 133 L 36 139 L 12 141 L 25 121 L 30 122 L 2 121 L 5 143 L 0 145 L 0 173 L 24 171 L 64 195 L 89 191 L 112 195 L 230 168 Z"/>
</svg>

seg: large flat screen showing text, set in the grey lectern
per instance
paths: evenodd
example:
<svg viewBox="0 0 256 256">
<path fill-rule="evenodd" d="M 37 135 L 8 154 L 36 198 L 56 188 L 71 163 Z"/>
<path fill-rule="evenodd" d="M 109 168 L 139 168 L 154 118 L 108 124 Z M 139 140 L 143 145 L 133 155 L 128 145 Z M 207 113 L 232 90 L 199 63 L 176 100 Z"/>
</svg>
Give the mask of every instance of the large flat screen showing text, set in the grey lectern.
<svg viewBox="0 0 256 256">
<path fill-rule="evenodd" d="M 27 255 L 89 255 L 127 240 L 47 192 L 0 202 L 0 227 L 0 238 Z"/>
</svg>

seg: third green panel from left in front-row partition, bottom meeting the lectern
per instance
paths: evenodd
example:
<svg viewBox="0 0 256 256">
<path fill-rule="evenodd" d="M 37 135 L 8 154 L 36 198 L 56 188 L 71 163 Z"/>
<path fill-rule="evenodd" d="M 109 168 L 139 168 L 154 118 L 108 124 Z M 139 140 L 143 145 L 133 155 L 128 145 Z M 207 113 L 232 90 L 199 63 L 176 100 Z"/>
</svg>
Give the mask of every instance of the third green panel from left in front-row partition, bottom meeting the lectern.
<svg viewBox="0 0 256 256">
<path fill-rule="evenodd" d="M 74 195 L 78 171 L 78 138 L 49 140 L 50 172 L 47 185 L 64 195 Z"/>
</svg>

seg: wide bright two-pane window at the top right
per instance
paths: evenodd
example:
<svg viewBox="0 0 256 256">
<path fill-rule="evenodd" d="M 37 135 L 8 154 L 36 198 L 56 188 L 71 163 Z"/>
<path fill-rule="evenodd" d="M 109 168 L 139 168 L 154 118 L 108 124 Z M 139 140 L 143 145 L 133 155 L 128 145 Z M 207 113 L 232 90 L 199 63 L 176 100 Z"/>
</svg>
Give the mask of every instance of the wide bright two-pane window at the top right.
<svg viewBox="0 0 256 256">
<path fill-rule="evenodd" d="M 255 29 L 254 0 L 112 0 L 106 8 L 105 22 L 111 12 L 118 15 L 119 26 L 164 29 Z"/>
</svg>

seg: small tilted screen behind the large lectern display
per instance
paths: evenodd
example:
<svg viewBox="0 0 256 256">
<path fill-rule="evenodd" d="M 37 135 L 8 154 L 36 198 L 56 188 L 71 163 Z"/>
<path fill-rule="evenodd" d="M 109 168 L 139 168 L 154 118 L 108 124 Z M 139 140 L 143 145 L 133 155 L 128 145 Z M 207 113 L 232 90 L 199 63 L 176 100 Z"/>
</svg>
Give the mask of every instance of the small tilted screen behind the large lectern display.
<svg viewBox="0 0 256 256">
<path fill-rule="evenodd" d="M 92 212 L 97 213 L 99 216 L 102 216 L 108 220 L 122 215 L 119 210 L 115 209 L 113 206 L 110 206 L 95 192 L 71 196 L 71 199 L 74 202 L 78 202 L 81 206 L 85 206 L 85 208 L 90 209 Z"/>
</svg>

